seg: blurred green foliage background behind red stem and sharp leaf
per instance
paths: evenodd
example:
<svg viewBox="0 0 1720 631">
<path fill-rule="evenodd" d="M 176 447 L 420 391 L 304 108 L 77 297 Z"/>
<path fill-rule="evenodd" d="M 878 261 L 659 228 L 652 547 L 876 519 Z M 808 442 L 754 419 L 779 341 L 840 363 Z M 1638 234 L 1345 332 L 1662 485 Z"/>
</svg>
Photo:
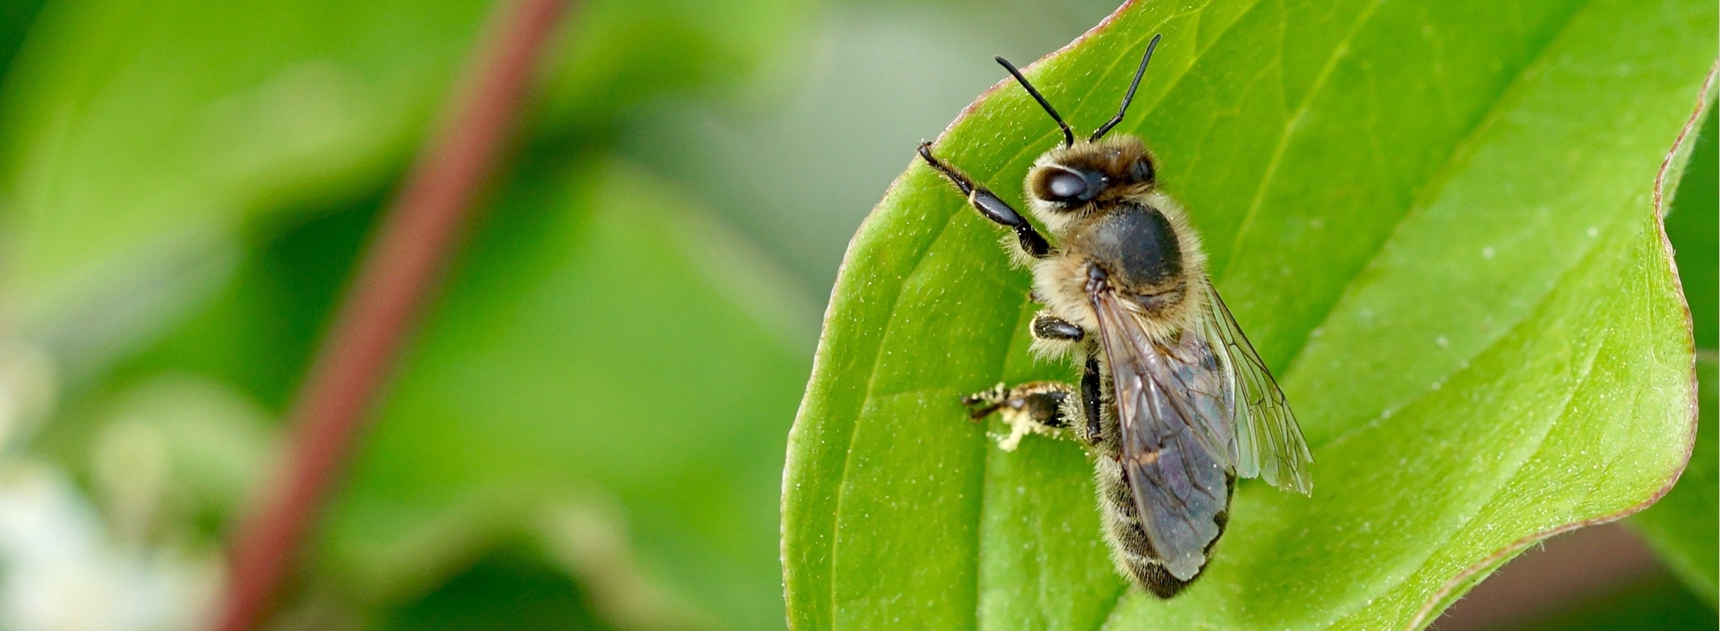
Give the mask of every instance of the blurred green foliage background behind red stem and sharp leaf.
<svg viewBox="0 0 1720 631">
<path fill-rule="evenodd" d="M 1025 64 L 1111 9 L 576 3 L 277 628 L 781 628 L 784 438 L 848 237 L 1001 77 L 991 55 Z M 0 629 L 208 616 L 279 418 L 488 15 L 0 3 Z M 1668 222 L 1710 365 L 1713 134 Z M 1710 490 L 1686 502 L 1711 516 L 1706 401 L 1689 480 Z M 1643 523 L 1680 528 L 1715 526 Z M 1713 593 L 1634 590 L 1591 605 L 1713 624 Z"/>
</svg>

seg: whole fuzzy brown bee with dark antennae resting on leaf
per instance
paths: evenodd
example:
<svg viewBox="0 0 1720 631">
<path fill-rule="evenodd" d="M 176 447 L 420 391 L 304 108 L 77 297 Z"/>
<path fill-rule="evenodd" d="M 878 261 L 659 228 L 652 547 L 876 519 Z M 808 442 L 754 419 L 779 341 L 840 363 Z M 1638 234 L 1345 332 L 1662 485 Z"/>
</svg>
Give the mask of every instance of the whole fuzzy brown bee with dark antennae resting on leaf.
<svg viewBox="0 0 1720 631">
<path fill-rule="evenodd" d="M 1073 435 L 1094 461 L 1104 540 L 1118 573 L 1170 598 L 1206 571 L 1230 521 L 1237 478 L 1309 493 L 1314 457 L 1283 392 L 1207 277 L 1201 237 L 1159 189 L 1139 138 L 1106 138 L 1135 98 L 1159 36 L 1147 43 L 1116 115 L 1077 139 L 1008 60 L 1015 81 L 1063 131 L 1027 174 L 1047 241 L 1022 213 L 920 143 L 920 158 L 1034 273 L 1044 304 L 1034 351 L 1073 358 L 1078 383 L 1032 382 L 963 397 L 974 420 L 998 413 L 1017 432 Z M 1013 447 L 1013 444 L 1004 444 Z"/>
</svg>

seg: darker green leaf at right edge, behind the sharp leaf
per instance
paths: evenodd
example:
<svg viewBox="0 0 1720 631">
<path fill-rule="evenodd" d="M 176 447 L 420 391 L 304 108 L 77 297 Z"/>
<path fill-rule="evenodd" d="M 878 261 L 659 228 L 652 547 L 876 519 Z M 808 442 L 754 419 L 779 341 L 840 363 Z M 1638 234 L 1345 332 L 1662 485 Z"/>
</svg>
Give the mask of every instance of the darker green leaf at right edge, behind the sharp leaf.
<svg viewBox="0 0 1720 631">
<path fill-rule="evenodd" d="M 1710 105 L 1703 134 L 1684 168 L 1679 196 L 1667 215 L 1667 237 L 1677 251 L 1679 279 L 1696 328 L 1696 377 L 1701 382 L 1701 428 L 1679 485 L 1648 511 L 1631 518 L 1637 531 L 1674 573 L 1710 605 L 1720 598 L 1720 447 L 1715 445 L 1715 327 L 1720 323 L 1720 151 Z"/>
</svg>

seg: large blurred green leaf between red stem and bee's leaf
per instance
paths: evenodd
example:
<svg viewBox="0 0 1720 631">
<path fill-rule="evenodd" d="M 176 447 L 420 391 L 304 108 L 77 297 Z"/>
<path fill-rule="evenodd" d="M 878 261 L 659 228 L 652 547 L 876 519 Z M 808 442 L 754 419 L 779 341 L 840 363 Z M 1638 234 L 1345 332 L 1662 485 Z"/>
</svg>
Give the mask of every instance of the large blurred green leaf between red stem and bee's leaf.
<svg viewBox="0 0 1720 631">
<path fill-rule="evenodd" d="M 783 622 L 783 440 L 812 332 L 697 205 L 535 163 L 478 232 L 329 523 L 390 598 L 552 504 L 619 504 L 636 571 L 726 628 Z M 595 590 L 595 588 L 593 588 Z"/>
</svg>

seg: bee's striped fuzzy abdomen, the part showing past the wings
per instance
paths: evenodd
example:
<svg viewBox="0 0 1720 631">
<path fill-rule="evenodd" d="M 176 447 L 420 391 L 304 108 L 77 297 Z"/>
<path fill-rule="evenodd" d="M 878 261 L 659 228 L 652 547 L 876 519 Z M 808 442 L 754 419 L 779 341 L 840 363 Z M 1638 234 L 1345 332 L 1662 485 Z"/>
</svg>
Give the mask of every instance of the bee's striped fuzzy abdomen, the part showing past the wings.
<svg viewBox="0 0 1720 631">
<path fill-rule="evenodd" d="M 1104 540 L 1111 547 L 1111 561 L 1116 562 L 1116 569 L 1125 578 L 1159 598 L 1175 597 L 1189 583 L 1201 578 L 1197 573 L 1183 581 L 1164 569 L 1158 552 L 1152 550 L 1152 543 L 1147 540 L 1146 530 L 1140 526 L 1140 512 L 1135 507 L 1133 492 L 1128 488 L 1128 481 L 1123 480 L 1123 469 L 1115 459 L 1099 456 L 1094 476 L 1099 487 L 1099 512 L 1104 518 Z M 1225 481 L 1228 488 L 1233 488 L 1235 476 L 1226 476 Z M 1218 524 L 1219 535 L 1223 535 L 1225 524 L 1230 521 L 1228 493 L 1226 509 L 1219 511 L 1213 521 Z M 1216 536 L 1207 543 L 1207 554 L 1211 554 L 1213 543 L 1218 543 Z"/>
</svg>

